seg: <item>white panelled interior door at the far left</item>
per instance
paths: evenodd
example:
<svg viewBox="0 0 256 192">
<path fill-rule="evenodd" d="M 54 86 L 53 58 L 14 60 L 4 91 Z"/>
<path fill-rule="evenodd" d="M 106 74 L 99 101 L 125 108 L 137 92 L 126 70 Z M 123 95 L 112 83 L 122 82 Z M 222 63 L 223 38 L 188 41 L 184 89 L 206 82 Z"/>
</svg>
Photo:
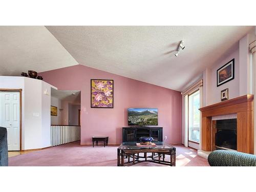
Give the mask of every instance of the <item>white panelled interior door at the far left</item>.
<svg viewBox="0 0 256 192">
<path fill-rule="evenodd" d="M 7 129 L 8 151 L 19 151 L 19 92 L 0 92 L 0 126 Z"/>
</svg>

